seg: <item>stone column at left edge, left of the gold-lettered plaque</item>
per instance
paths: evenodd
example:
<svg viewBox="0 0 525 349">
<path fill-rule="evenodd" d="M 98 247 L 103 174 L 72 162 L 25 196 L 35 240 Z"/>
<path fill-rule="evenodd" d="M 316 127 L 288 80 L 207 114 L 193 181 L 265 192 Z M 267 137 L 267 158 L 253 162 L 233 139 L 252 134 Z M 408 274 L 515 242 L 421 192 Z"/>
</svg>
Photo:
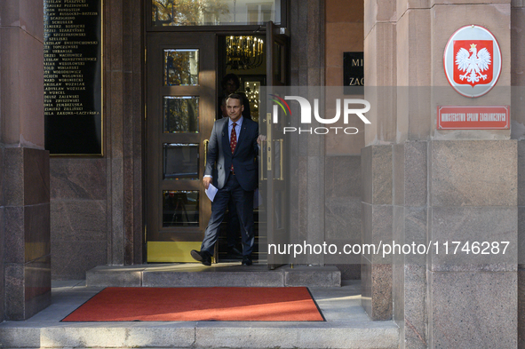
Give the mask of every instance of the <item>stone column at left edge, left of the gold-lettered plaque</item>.
<svg viewBox="0 0 525 349">
<path fill-rule="evenodd" d="M 0 3 L 0 309 L 7 320 L 51 304 L 43 13 L 42 0 Z"/>
</svg>

